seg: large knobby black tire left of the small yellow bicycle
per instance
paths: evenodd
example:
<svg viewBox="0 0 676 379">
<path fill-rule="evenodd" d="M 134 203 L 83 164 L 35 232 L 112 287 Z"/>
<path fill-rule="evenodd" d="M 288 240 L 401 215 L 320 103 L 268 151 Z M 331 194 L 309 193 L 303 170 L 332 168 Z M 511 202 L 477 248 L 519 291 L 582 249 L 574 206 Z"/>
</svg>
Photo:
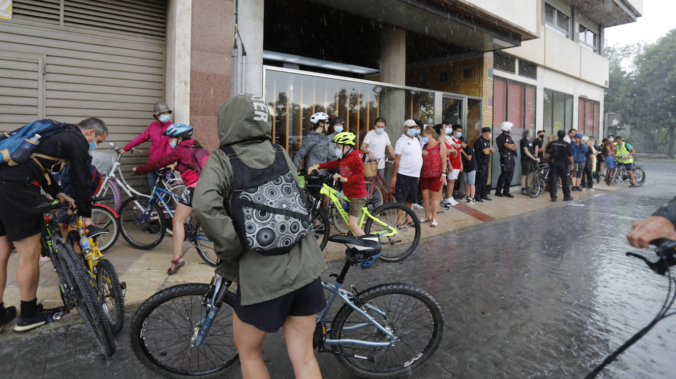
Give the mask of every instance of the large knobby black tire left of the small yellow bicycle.
<svg viewBox="0 0 676 379">
<path fill-rule="evenodd" d="M 115 340 L 108 321 L 103 316 L 101 303 L 99 303 L 94 287 L 94 278 L 82 265 L 82 261 L 69 244 L 59 243 L 56 250 L 59 257 L 66 263 L 68 275 L 72 277 L 74 305 L 80 311 L 84 324 L 87 324 L 89 331 L 93 334 L 93 340 L 103 357 L 111 357 L 115 353 Z"/>
</svg>

